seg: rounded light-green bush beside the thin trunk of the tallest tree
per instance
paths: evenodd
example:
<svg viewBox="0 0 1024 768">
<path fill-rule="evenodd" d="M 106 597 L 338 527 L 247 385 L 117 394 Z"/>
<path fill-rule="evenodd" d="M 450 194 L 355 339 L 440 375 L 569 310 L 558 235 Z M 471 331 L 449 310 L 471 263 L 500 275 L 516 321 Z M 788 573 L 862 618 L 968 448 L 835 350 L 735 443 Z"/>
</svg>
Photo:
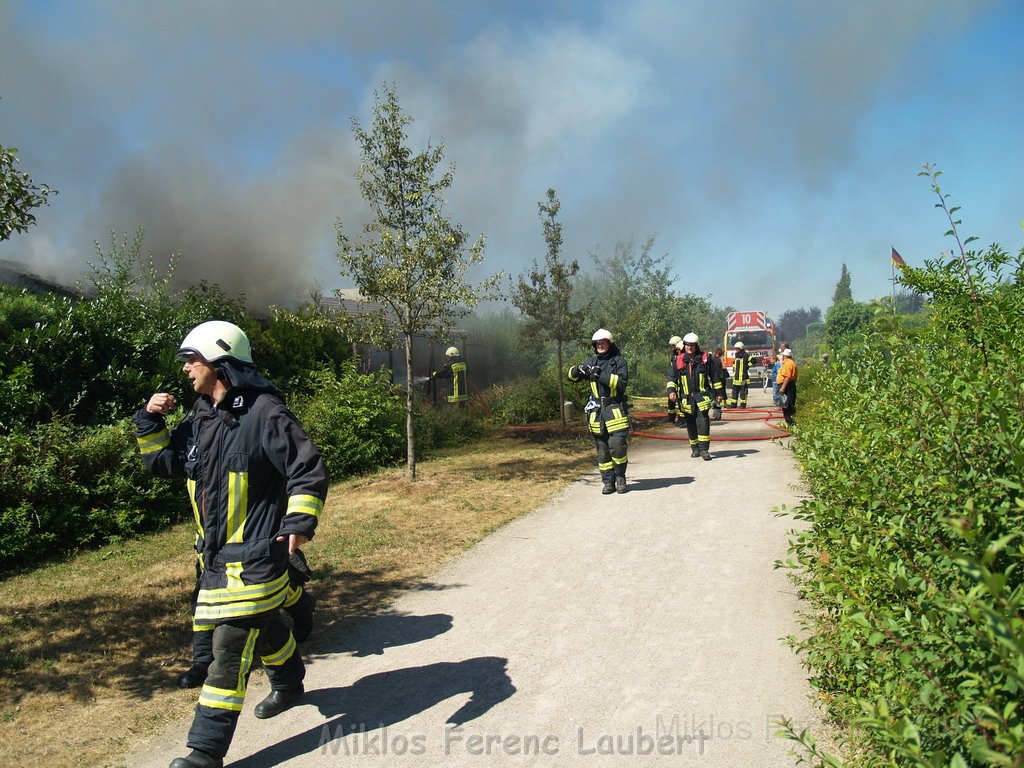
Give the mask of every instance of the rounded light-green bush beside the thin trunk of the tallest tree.
<svg viewBox="0 0 1024 768">
<path fill-rule="evenodd" d="M 360 374 L 353 360 L 333 371 L 311 372 L 303 383 L 311 394 L 292 403 L 319 447 L 333 480 L 371 472 L 406 455 L 404 401 L 388 372 Z"/>
</svg>

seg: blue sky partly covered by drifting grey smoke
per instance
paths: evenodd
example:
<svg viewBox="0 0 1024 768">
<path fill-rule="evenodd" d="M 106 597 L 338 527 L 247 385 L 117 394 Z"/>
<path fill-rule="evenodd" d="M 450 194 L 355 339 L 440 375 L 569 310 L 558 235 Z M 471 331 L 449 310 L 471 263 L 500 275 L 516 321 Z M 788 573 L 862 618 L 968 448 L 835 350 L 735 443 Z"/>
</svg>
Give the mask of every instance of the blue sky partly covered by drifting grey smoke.
<svg viewBox="0 0 1024 768">
<path fill-rule="evenodd" d="M 367 215 L 351 119 L 394 83 L 445 144 L 477 274 L 616 241 L 719 305 L 824 310 L 952 247 L 1024 246 L 1024 3 L 1008 0 L 0 0 L 0 144 L 60 190 L 0 259 L 61 278 L 112 230 L 179 274 L 288 303 L 345 287 L 334 220 Z M 613 325 L 613 318 L 609 318 Z"/>
</svg>

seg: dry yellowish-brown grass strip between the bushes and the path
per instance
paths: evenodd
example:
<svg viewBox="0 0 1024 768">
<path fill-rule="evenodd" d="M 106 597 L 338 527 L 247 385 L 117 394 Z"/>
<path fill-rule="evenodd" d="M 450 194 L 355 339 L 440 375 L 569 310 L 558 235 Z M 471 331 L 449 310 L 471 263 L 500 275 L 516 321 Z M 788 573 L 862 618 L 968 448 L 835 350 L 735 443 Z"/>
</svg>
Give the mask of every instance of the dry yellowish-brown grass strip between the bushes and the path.
<svg viewBox="0 0 1024 768">
<path fill-rule="evenodd" d="M 495 437 L 332 488 L 306 549 L 318 626 L 379 610 L 456 554 L 593 467 L 591 441 L 549 430 Z M 104 547 L 0 583 L 0 766 L 119 765 L 186 718 L 173 687 L 190 659 L 189 524 Z"/>
</svg>

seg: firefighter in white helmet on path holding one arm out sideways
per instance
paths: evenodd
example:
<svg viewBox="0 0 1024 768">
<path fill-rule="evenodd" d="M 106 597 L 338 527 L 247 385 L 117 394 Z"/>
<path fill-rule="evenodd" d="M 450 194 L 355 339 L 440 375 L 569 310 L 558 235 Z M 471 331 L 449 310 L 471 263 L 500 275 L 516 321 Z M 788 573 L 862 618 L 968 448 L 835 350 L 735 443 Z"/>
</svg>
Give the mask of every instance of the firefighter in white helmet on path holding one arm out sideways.
<svg viewBox="0 0 1024 768">
<path fill-rule="evenodd" d="M 597 468 L 601 471 L 602 494 L 625 494 L 626 438 L 630 431 L 626 385 L 629 371 L 626 358 L 611 339 L 611 332 L 597 330 L 591 342 L 594 355 L 586 362 L 571 366 L 569 381 L 589 381 L 590 400 L 584 412 L 597 446 Z"/>
</svg>

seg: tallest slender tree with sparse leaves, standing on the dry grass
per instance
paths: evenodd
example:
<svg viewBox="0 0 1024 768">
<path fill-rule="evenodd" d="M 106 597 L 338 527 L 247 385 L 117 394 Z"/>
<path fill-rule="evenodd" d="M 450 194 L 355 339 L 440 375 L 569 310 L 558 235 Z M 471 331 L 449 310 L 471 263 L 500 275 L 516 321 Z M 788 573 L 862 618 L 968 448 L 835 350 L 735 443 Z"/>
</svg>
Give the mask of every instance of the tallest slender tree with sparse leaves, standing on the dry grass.
<svg viewBox="0 0 1024 768">
<path fill-rule="evenodd" d="M 357 242 L 344 233 L 341 219 L 336 221 L 337 255 L 342 274 L 380 307 L 374 312 L 374 340 L 390 337 L 386 340 L 393 346 L 400 339 L 404 347 L 407 475 L 414 480 L 413 340 L 442 339 L 457 318 L 493 295 L 500 275 L 475 289 L 466 282 L 469 268 L 483 260 L 483 237 L 470 243 L 443 213 L 442 195 L 453 181 L 451 169 L 437 175 L 444 144 L 414 154 L 406 134 L 413 118 L 402 113 L 393 87 L 374 95 L 372 127 L 366 130 L 352 119 L 362 152 L 356 178 L 373 217 Z"/>
</svg>

